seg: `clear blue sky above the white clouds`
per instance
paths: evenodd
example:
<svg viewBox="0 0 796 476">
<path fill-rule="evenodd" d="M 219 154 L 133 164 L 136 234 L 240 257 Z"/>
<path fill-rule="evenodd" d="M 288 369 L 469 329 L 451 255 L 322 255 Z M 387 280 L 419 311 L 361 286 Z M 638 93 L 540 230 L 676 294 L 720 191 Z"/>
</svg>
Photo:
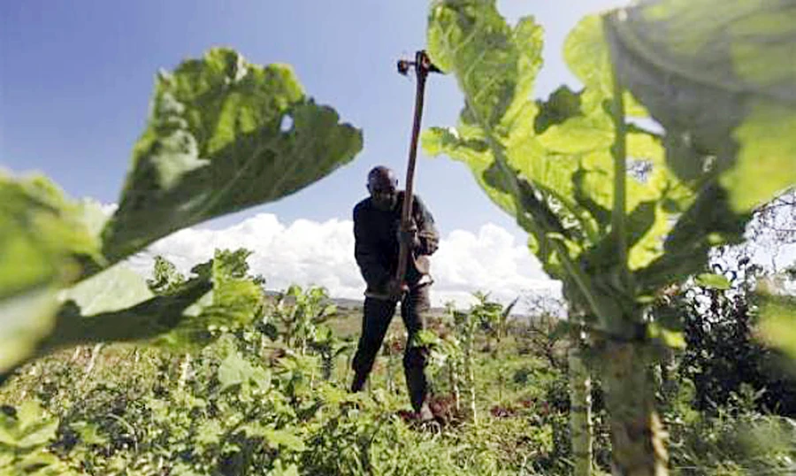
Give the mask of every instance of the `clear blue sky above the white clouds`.
<svg viewBox="0 0 796 476">
<path fill-rule="evenodd" d="M 546 28 L 540 95 L 577 85 L 561 60 L 563 38 L 584 14 L 611 4 L 499 4 L 509 19 L 533 14 Z M 73 197 L 116 202 L 157 69 L 226 45 L 254 63 L 293 65 L 311 96 L 364 129 L 365 146 L 351 165 L 295 196 L 206 226 L 258 211 L 287 221 L 348 218 L 372 165 L 405 172 L 415 88 L 394 63 L 424 47 L 427 8 L 416 0 L 0 2 L 0 165 L 42 171 Z M 453 125 L 461 106 L 454 79 L 433 77 L 424 126 Z M 443 230 L 494 222 L 524 237 L 448 158 L 421 157 L 417 190 Z"/>
</svg>

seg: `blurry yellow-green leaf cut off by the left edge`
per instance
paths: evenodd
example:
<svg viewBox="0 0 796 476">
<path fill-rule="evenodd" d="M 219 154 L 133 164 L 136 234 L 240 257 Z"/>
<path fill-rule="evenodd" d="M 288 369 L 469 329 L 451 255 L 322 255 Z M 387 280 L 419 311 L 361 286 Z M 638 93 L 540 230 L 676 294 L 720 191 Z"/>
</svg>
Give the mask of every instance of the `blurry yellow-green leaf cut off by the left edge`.
<svg viewBox="0 0 796 476">
<path fill-rule="evenodd" d="M 0 172 L 0 372 L 50 331 L 57 289 L 101 262 L 88 214 L 50 180 Z"/>
</svg>

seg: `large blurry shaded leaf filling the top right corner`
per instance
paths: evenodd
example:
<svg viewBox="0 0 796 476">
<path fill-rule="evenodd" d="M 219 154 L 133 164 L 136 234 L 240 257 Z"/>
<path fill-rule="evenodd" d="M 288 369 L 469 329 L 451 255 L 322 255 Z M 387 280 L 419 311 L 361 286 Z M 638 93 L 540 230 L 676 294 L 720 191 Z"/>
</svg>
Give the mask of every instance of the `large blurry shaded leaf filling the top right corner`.
<svg viewBox="0 0 796 476">
<path fill-rule="evenodd" d="M 681 177 L 719 173 L 736 212 L 796 183 L 796 3 L 651 0 L 605 19 L 616 73 Z"/>
</svg>

